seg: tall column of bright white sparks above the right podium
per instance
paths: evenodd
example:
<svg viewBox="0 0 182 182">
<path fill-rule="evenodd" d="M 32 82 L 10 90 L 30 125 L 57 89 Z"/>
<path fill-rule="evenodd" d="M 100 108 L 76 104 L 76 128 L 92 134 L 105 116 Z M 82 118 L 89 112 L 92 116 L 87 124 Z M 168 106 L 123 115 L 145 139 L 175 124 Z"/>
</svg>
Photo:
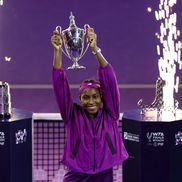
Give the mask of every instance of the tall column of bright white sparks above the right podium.
<svg viewBox="0 0 182 182">
<path fill-rule="evenodd" d="M 176 69 L 182 68 L 181 49 L 182 43 L 178 41 L 180 31 L 176 27 L 177 14 L 172 8 L 177 0 L 160 0 L 159 10 L 155 11 L 155 18 L 160 22 L 159 41 L 157 45 L 158 69 L 163 87 L 163 112 L 164 116 L 174 115 L 175 100 L 174 91 L 178 92 L 179 77 L 176 76 Z M 165 120 L 165 118 L 163 118 Z"/>
</svg>

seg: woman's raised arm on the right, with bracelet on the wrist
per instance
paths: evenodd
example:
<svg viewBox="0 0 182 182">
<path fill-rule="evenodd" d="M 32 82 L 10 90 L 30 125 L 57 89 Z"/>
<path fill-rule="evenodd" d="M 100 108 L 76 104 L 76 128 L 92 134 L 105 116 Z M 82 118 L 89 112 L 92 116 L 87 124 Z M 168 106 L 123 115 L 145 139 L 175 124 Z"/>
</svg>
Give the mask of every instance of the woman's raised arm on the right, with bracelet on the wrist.
<svg viewBox="0 0 182 182">
<path fill-rule="evenodd" d="M 119 119 L 120 94 L 115 72 L 97 46 L 97 35 L 92 28 L 88 28 L 88 42 L 92 53 L 99 63 L 99 80 L 101 84 L 104 107 L 114 118 Z"/>
</svg>

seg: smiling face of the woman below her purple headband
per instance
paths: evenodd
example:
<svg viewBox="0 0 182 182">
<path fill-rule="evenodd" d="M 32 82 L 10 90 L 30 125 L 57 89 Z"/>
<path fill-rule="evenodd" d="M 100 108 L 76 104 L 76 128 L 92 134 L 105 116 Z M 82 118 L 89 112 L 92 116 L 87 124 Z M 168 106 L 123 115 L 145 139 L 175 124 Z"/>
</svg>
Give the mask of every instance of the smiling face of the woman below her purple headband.
<svg viewBox="0 0 182 182">
<path fill-rule="evenodd" d="M 80 103 L 91 117 L 98 112 L 101 104 L 101 94 L 96 88 L 86 88 L 80 94 Z"/>
</svg>

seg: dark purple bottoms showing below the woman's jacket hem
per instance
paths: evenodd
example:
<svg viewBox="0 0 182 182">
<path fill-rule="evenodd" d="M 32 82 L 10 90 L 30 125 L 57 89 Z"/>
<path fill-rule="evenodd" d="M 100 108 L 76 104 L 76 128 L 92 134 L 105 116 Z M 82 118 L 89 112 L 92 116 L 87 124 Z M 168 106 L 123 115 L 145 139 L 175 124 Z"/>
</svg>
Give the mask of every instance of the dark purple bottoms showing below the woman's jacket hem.
<svg viewBox="0 0 182 182">
<path fill-rule="evenodd" d="M 63 182 L 113 182 L 113 170 L 111 168 L 96 174 L 68 171 Z"/>
</svg>

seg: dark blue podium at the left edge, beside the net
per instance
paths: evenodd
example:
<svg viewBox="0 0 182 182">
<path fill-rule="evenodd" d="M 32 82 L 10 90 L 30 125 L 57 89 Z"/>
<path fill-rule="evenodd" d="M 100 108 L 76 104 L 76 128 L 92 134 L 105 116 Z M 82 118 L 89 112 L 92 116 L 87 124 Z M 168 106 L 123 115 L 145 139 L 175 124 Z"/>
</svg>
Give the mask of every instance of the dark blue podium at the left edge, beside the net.
<svg viewBox="0 0 182 182">
<path fill-rule="evenodd" d="M 32 182 L 32 113 L 12 109 L 0 119 L 0 181 Z"/>
</svg>

